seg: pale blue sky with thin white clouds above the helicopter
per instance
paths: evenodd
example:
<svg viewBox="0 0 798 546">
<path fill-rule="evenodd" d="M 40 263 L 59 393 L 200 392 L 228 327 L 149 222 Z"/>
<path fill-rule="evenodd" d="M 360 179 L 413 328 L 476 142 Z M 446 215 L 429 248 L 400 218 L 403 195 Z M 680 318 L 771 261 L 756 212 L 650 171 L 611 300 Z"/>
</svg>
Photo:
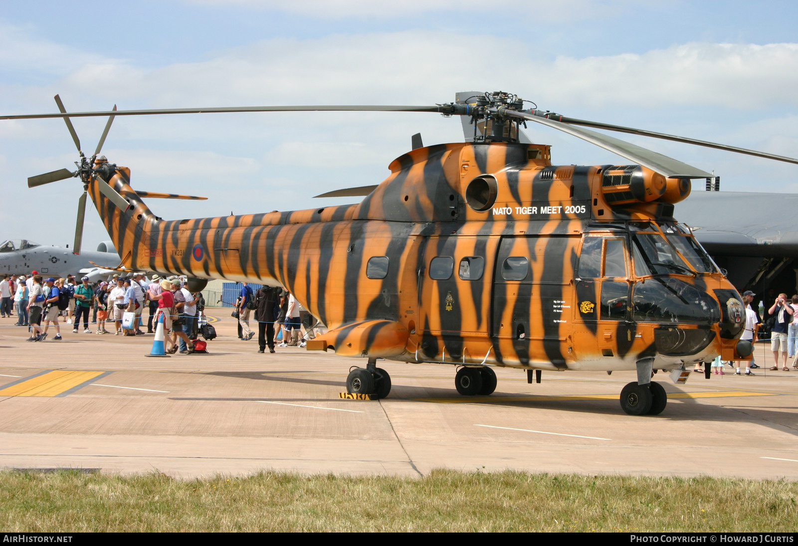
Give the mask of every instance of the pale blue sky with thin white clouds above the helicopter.
<svg viewBox="0 0 798 546">
<path fill-rule="evenodd" d="M 798 157 L 796 2 L 670 0 L 0 0 L 0 113 L 242 105 L 432 105 L 503 90 L 569 117 Z M 87 155 L 105 120 L 73 121 Z M 232 113 L 117 118 L 103 153 L 166 219 L 354 202 L 433 113 Z M 544 127 L 554 164 L 626 164 Z M 721 176 L 721 190 L 798 192 L 798 165 L 614 134 Z M 77 179 L 63 123 L 0 121 L 0 239 L 73 241 Z M 702 189 L 697 180 L 695 191 Z M 84 248 L 108 239 L 86 214 Z"/>
</svg>

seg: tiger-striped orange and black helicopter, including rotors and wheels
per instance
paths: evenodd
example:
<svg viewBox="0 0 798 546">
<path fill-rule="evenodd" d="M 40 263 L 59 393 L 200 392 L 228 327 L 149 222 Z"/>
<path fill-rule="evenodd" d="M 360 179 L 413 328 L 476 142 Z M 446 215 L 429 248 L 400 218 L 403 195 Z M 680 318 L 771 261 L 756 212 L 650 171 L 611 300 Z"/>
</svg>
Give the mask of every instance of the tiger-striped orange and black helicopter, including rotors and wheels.
<svg viewBox="0 0 798 546">
<path fill-rule="evenodd" d="M 703 140 L 584 121 L 543 111 L 510 93 L 458 93 L 431 106 L 255 106 L 2 116 L 108 116 L 94 155 L 76 171 L 28 179 L 32 188 L 77 177 L 74 248 L 88 195 L 125 267 L 188 275 L 192 290 L 223 278 L 285 287 L 328 326 L 308 350 L 365 358 L 346 381 L 352 394 L 384 398 L 377 359 L 457 366 L 456 389 L 489 395 L 492 366 L 527 371 L 636 370 L 623 411 L 658 414 L 666 392 L 656 370 L 750 359 L 741 296 L 674 219 L 690 180 L 710 173 L 587 126 L 754 156 L 798 160 Z M 176 113 L 389 111 L 460 116 L 466 141 L 424 146 L 389 165 L 380 184 L 322 196 L 358 204 L 294 212 L 163 220 L 132 188 L 130 170 L 99 156 L 117 116 Z M 559 129 L 633 162 L 553 165 L 527 122 Z M 183 197 L 150 194 L 153 197 Z M 322 197 L 320 196 L 320 197 Z M 709 366 L 706 366 L 709 378 Z"/>
</svg>

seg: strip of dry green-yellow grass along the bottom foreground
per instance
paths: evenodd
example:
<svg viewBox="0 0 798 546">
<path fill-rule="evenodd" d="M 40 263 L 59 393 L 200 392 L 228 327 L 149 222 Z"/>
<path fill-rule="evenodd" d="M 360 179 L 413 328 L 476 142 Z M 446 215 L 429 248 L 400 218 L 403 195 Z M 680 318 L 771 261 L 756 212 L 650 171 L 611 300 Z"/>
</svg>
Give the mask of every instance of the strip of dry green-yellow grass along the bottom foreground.
<svg viewBox="0 0 798 546">
<path fill-rule="evenodd" d="M 794 532 L 798 483 L 710 477 L 464 473 L 175 480 L 0 472 L 4 532 Z"/>
</svg>

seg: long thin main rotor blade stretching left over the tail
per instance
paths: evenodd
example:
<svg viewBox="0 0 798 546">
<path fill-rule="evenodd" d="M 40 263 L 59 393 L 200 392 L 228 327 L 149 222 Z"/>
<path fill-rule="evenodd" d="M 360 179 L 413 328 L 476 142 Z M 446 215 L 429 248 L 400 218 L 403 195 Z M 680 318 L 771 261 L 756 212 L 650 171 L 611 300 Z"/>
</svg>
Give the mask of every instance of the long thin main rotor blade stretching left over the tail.
<svg viewBox="0 0 798 546">
<path fill-rule="evenodd" d="M 444 105 L 445 107 L 445 105 Z M 233 106 L 230 108 L 171 108 L 149 110 L 117 110 L 103 112 L 62 112 L 49 114 L 21 114 L 18 116 L 0 116 L 0 120 L 32 120 L 48 117 L 105 117 L 105 116 L 152 116 L 172 113 L 228 113 L 228 112 L 441 112 L 441 106 Z M 71 124 L 68 124 L 71 125 Z M 77 139 L 77 137 L 75 137 Z"/>
</svg>

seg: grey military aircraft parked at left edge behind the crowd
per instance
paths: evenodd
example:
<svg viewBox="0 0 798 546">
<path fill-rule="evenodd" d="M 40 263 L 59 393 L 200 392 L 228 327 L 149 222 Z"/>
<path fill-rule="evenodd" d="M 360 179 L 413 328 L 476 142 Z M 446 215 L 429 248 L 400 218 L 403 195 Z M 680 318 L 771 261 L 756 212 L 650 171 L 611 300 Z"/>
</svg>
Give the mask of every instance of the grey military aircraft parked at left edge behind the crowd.
<svg viewBox="0 0 798 546">
<path fill-rule="evenodd" d="M 0 274 L 28 275 L 38 271 L 45 277 L 79 275 L 81 270 L 99 266 L 115 267 L 119 255 L 111 241 L 97 245 L 97 251 L 75 254 L 69 247 L 45 246 L 27 239 L 8 239 L 0 243 Z"/>
</svg>

